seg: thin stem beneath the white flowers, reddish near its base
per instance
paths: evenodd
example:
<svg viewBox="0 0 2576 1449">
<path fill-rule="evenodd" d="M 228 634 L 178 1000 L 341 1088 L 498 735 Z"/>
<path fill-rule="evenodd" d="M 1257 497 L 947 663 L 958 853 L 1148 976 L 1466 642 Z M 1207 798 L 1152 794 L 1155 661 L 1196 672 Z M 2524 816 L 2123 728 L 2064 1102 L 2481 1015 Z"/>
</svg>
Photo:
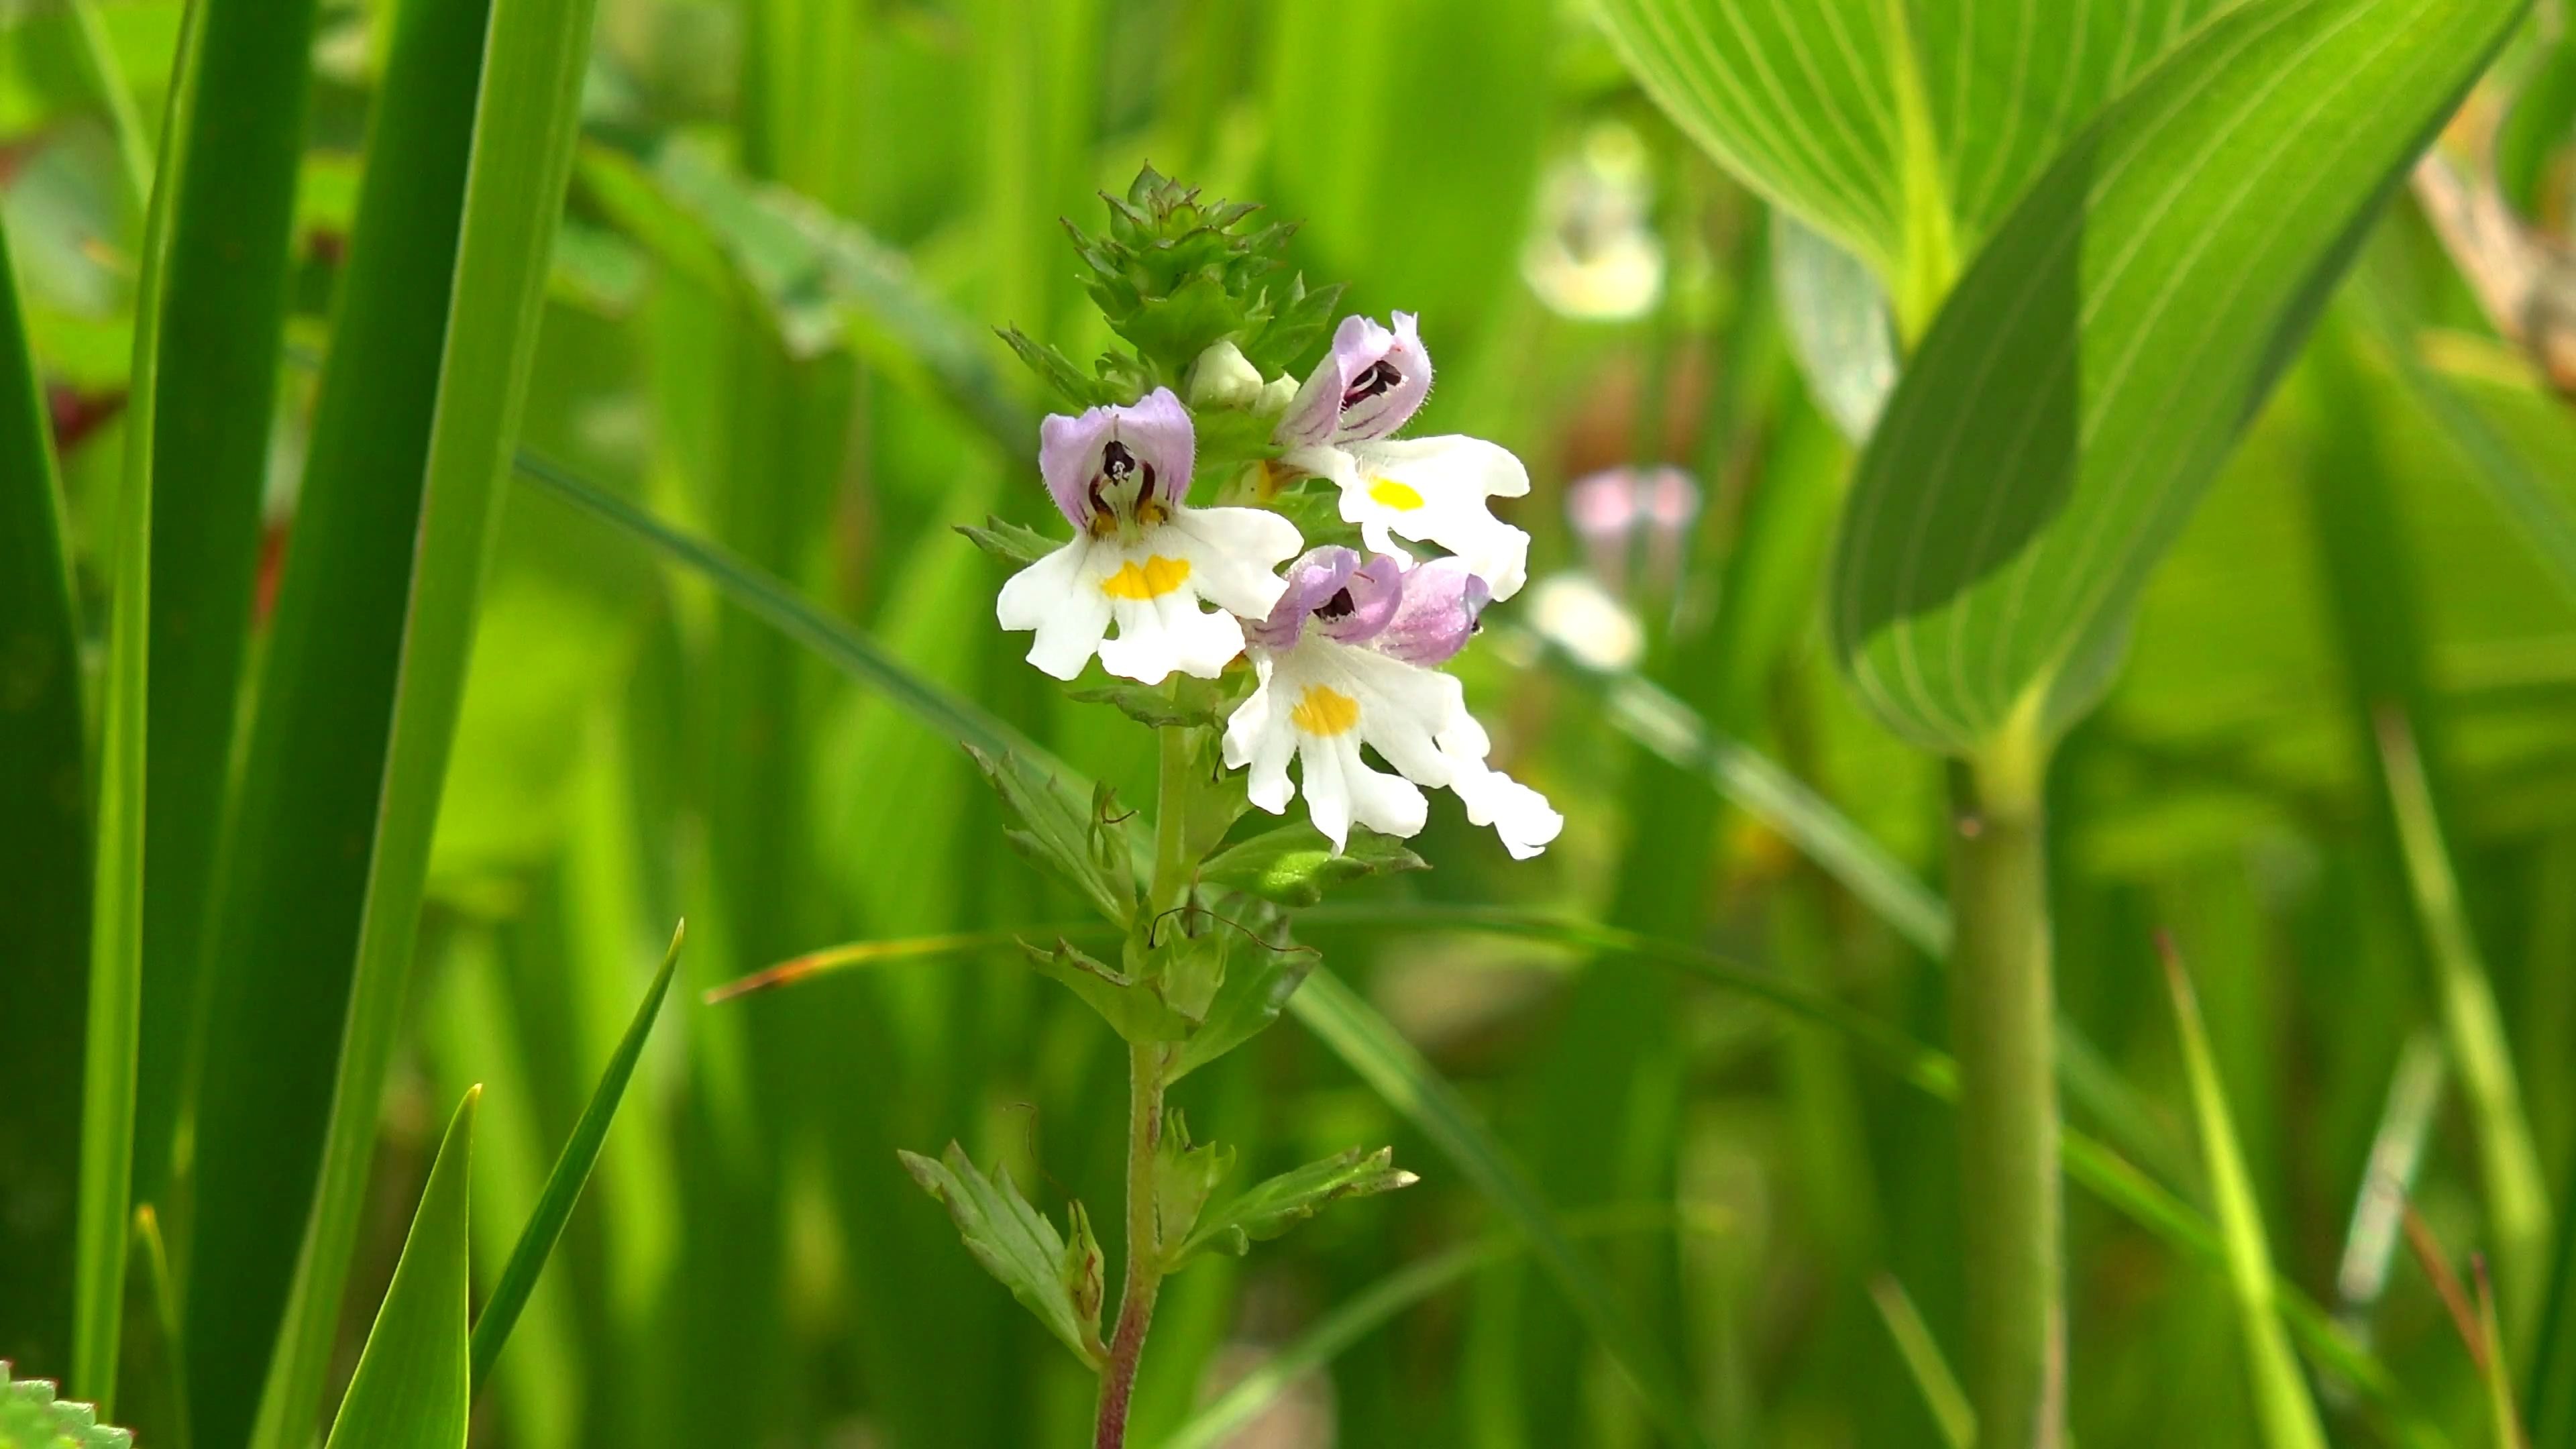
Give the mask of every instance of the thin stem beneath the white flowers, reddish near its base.
<svg viewBox="0 0 2576 1449">
<path fill-rule="evenodd" d="M 1149 938 L 1164 928 L 1164 913 L 1190 902 L 1190 794 L 1198 789 L 1198 776 L 1190 768 L 1193 732 L 1164 727 L 1159 735 L 1162 789 L 1154 804 L 1154 882 L 1146 887 Z M 1118 1292 L 1118 1328 L 1110 1330 L 1110 1359 L 1100 1366 L 1100 1423 L 1092 1434 L 1092 1449 L 1126 1449 L 1136 1364 L 1144 1356 L 1144 1333 L 1154 1323 L 1154 1297 L 1162 1292 L 1162 1212 L 1154 1194 L 1154 1158 L 1162 1150 L 1164 1073 L 1162 1047 L 1146 1042 L 1128 1047 L 1128 1261 L 1126 1287 Z"/>
</svg>

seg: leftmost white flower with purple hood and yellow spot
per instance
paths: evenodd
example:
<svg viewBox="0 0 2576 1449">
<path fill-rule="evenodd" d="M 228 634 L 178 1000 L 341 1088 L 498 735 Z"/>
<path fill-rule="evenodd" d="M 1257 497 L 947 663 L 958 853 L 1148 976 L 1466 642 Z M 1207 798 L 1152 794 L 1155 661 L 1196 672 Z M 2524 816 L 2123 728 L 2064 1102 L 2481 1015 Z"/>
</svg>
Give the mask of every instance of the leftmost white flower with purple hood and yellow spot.
<svg viewBox="0 0 2576 1449">
<path fill-rule="evenodd" d="M 1167 387 L 1136 407 L 1048 418 L 1038 443 L 1074 541 L 1002 585 L 1002 627 L 1038 632 L 1028 663 L 1074 678 L 1097 652 L 1100 668 L 1141 683 L 1172 670 L 1216 678 L 1244 650 L 1236 614 L 1260 619 L 1288 588 L 1273 570 L 1296 554 L 1296 526 L 1260 508 L 1182 503 L 1195 436 Z"/>
</svg>

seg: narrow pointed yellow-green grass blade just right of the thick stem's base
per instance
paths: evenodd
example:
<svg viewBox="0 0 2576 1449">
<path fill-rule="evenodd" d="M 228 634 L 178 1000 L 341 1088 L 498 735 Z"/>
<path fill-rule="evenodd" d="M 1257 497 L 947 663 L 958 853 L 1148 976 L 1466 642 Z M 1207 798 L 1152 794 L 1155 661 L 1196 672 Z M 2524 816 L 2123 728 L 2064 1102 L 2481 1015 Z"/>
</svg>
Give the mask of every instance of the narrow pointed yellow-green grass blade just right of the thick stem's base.
<svg viewBox="0 0 2576 1449">
<path fill-rule="evenodd" d="M 2262 1421 L 2262 1439 L 2269 1449 L 2324 1449 L 2326 1428 L 2316 1421 L 2316 1400 L 2298 1372 L 2290 1341 L 2280 1328 L 2280 1310 L 2272 1302 L 2272 1248 L 2264 1240 L 2262 1204 L 2254 1201 L 2254 1183 L 2246 1178 L 2244 1152 L 2236 1147 L 2236 1122 L 2228 1114 L 2226 1085 L 2218 1080 L 2218 1057 L 2210 1052 L 2210 1034 L 2200 1024 L 2200 1000 L 2192 980 L 2182 972 L 2182 957 L 2169 941 L 2164 954 L 2164 980 L 2174 993 L 2174 1026 L 2182 1034 L 2182 1067 L 2192 1085 L 2192 1116 L 2200 1124 L 2200 1158 L 2210 1173 L 2210 1196 L 2218 1204 L 2218 1232 L 2228 1245 L 2228 1284 L 2236 1289 L 2236 1318 L 2246 1341 L 2246 1374 L 2251 1374 L 2254 1408 Z"/>
</svg>

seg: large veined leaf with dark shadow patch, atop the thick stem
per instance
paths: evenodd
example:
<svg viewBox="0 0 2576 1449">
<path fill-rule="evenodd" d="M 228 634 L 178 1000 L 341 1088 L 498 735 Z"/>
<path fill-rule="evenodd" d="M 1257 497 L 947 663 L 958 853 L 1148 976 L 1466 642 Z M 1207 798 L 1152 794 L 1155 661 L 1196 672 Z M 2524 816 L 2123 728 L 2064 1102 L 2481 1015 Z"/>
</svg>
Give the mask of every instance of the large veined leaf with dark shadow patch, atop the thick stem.
<svg viewBox="0 0 2576 1449">
<path fill-rule="evenodd" d="M 2499 0 L 2249 0 L 2004 219 L 1860 462 L 1834 645 L 1917 743 L 2048 732 L 2365 224 L 2514 26 Z"/>
</svg>

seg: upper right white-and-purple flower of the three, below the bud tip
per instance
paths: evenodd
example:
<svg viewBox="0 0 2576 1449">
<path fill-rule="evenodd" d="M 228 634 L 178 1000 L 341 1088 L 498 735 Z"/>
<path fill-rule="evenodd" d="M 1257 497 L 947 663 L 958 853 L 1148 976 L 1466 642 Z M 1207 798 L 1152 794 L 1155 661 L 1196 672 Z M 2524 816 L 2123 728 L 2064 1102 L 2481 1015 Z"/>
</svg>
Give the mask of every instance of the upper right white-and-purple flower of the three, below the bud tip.
<svg viewBox="0 0 2576 1449">
<path fill-rule="evenodd" d="M 1386 330 L 1370 317 L 1342 317 L 1332 353 L 1273 433 L 1285 449 L 1280 462 L 1332 480 L 1342 518 L 1360 526 L 1373 552 L 1399 552 L 1399 536 L 1440 544 L 1494 598 L 1512 598 L 1530 578 L 1530 536 L 1494 518 L 1486 500 L 1530 492 L 1530 469 L 1484 438 L 1388 438 L 1432 389 L 1414 315 L 1394 320 Z"/>
</svg>

